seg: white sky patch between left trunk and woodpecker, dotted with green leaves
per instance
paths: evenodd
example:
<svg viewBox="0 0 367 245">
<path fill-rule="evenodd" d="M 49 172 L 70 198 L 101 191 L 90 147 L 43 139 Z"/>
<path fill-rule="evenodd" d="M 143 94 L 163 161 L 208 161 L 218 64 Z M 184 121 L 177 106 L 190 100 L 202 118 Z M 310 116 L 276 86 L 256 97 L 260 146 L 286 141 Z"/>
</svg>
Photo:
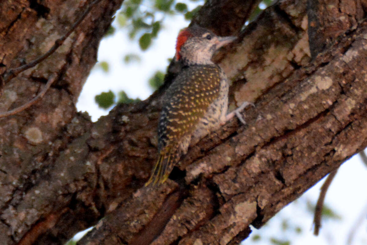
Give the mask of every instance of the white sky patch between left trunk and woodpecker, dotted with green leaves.
<svg viewBox="0 0 367 245">
<path fill-rule="evenodd" d="M 148 85 L 149 78 L 158 70 L 166 72 L 168 58 L 175 54 L 176 36 L 180 29 L 189 24 L 182 14 L 169 19 L 172 19 L 174 25 L 163 25 L 158 39 L 154 39 L 146 51 L 141 51 L 137 40 L 130 40 L 127 30 L 118 28 L 114 21 L 115 34 L 103 38 L 98 50 L 98 61 L 108 61 L 109 72 L 103 72 L 102 69 L 91 71 L 81 91 L 77 109 L 88 111 L 92 120 L 96 121 L 100 116 L 108 114 L 108 110 L 98 108 L 94 101 L 94 96 L 101 92 L 112 90 L 117 94 L 124 90 L 130 98 L 148 98 L 153 92 Z M 123 58 L 127 54 L 138 54 L 141 61 L 126 64 Z"/>
</svg>

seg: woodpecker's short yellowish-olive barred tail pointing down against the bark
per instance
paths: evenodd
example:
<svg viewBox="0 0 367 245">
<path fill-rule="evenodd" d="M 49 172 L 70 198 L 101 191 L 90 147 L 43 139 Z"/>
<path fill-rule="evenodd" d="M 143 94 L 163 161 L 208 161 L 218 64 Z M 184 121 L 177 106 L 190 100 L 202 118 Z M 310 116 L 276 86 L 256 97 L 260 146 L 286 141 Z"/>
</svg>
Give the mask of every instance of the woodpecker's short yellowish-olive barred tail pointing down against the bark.
<svg viewBox="0 0 367 245">
<path fill-rule="evenodd" d="M 145 186 L 163 184 L 168 179 L 174 164 L 178 161 L 178 152 L 170 149 L 165 153 L 159 154 L 157 163 L 154 165 L 150 179 Z"/>
</svg>

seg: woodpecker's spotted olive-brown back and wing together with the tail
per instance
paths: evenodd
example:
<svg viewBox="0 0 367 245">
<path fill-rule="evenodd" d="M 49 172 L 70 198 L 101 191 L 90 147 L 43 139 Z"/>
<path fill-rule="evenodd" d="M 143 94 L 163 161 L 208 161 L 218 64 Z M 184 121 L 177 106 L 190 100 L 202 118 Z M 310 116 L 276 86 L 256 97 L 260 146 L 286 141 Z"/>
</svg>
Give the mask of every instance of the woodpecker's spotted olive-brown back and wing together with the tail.
<svg viewBox="0 0 367 245">
<path fill-rule="evenodd" d="M 191 65 L 183 69 L 163 97 L 158 125 L 159 157 L 146 185 L 163 183 L 210 104 L 219 96 L 221 69 L 217 65 Z"/>
</svg>

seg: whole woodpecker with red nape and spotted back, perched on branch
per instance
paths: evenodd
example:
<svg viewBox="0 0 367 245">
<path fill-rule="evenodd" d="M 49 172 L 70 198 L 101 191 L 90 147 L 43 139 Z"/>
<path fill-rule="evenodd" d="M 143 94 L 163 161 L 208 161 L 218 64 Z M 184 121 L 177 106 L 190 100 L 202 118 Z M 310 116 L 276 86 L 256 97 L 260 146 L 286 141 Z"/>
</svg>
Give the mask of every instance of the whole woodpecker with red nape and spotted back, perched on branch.
<svg viewBox="0 0 367 245">
<path fill-rule="evenodd" d="M 235 115 L 233 112 L 226 116 L 227 77 L 211 61 L 218 48 L 235 39 L 219 37 L 197 25 L 178 34 L 175 60 L 183 68 L 163 96 L 158 125 L 159 156 L 145 185 L 166 181 L 190 143 L 196 144 Z"/>
</svg>

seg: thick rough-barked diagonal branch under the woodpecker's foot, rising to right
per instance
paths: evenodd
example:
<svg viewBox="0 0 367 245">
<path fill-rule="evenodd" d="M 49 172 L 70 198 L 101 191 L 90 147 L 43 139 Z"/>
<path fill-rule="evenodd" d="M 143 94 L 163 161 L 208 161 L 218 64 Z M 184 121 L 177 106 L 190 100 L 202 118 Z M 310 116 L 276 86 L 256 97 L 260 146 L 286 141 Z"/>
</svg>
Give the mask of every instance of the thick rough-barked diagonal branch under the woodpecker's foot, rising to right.
<svg viewBox="0 0 367 245">
<path fill-rule="evenodd" d="M 247 126 L 237 128 L 233 121 L 190 149 L 179 166 L 186 171 L 181 188 L 196 191 L 183 200 L 152 244 L 227 244 L 250 224 L 261 227 L 363 149 L 366 78 L 350 67 L 367 67 L 366 34 L 363 22 L 315 63 L 259 98 L 256 108 L 246 112 Z M 351 140 L 354 134 L 358 140 Z M 170 178 L 178 180 L 176 174 Z M 157 207 L 147 205 L 154 205 L 152 198 L 167 188 L 178 187 L 167 181 L 156 189 L 137 190 L 116 210 L 119 216 L 101 221 L 79 244 L 103 243 L 107 237 L 108 244 L 117 238 L 130 244 L 141 229 L 152 226 Z M 136 206 L 141 211 L 136 212 Z"/>
</svg>

